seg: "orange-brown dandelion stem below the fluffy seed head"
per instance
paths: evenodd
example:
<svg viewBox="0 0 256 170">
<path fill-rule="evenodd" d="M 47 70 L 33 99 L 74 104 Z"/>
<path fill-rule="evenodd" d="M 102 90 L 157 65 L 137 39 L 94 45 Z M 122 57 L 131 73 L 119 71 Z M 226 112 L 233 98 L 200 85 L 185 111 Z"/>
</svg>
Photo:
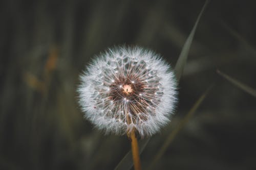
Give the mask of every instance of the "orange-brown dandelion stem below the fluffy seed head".
<svg viewBox="0 0 256 170">
<path fill-rule="evenodd" d="M 131 138 L 131 144 L 132 144 L 134 169 L 141 170 L 138 140 L 136 138 L 135 129 L 132 130 L 130 134 L 130 138 Z"/>
</svg>

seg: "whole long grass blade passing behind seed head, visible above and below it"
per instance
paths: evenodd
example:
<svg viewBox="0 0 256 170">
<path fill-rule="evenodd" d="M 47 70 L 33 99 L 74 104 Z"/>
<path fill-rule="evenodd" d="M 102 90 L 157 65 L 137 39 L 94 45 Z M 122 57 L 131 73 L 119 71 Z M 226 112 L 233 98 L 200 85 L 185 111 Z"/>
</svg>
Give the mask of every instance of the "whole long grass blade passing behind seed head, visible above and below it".
<svg viewBox="0 0 256 170">
<path fill-rule="evenodd" d="M 183 48 L 182 48 L 182 51 L 181 51 L 181 54 L 179 56 L 179 59 L 176 63 L 176 66 L 175 66 L 175 71 L 176 71 L 176 76 L 177 76 L 177 80 L 179 81 L 181 75 L 182 75 L 182 72 L 183 72 L 183 68 L 186 64 L 186 60 L 187 60 L 187 55 L 188 55 L 188 52 L 189 52 L 189 48 L 190 48 L 190 45 L 191 45 L 191 42 L 193 40 L 193 37 L 195 35 L 195 32 L 196 32 L 196 28 L 197 28 L 197 25 L 198 25 L 198 22 L 203 14 L 203 11 L 204 9 L 206 8 L 207 4 L 208 4 L 208 0 L 205 1 L 204 3 L 204 6 L 197 18 L 197 21 L 192 29 L 192 31 L 190 32 Z M 148 143 L 148 141 L 150 140 L 150 138 L 148 139 L 144 139 L 142 141 L 139 141 L 139 149 L 140 149 L 140 154 L 143 152 L 144 148 L 146 147 L 146 144 Z M 115 169 L 131 169 L 133 166 L 133 159 L 132 159 L 132 153 L 131 151 L 129 151 L 124 157 L 123 159 L 118 163 L 118 165 L 116 166 Z"/>
</svg>

